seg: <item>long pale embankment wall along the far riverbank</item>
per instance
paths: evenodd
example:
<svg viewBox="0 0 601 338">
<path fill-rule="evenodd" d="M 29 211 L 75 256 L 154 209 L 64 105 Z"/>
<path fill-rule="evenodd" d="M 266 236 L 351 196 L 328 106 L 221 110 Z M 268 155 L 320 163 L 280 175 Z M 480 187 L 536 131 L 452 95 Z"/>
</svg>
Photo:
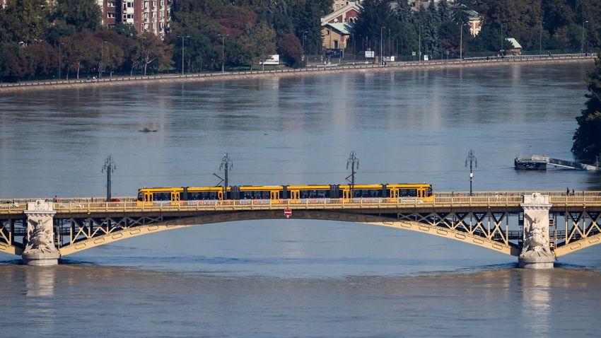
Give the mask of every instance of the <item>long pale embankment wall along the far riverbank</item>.
<svg viewBox="0 0 601 338">
<path fill-rule="evenodd" d="M 158 76 L 122 76 L 102 78 L 96 81 L 69 80 L 69 81 L 39 81 L 23 83 L 0 83 L 0 93 L 8 91 L 50 90 L 64 88 L 84 88 L 98 86 L 132 86 L 148 83 L 177 83 L 199 81 L 232 81 L 247 78 L 272 78 L 283 76 L 308 76 L 338 73 L 372 73 L 378 71 L 414 71 L 420 69 L 457 69 L 482 66 L 508 66 L 513 64 L 566 64 L 593 62 L 595 55 L 577 54 L 576 56 L 563 57 L 507 57 L 504 59 L 477 59 L 477 60 L 451 60 L 430 62 L 399 62 L 386 66 L 376 64 L 354 64 L 344 66 L 318 66 L 305 69 L 281 69 L 273 71 L 240 71 L 226 73 L 200 73 L 185 75 L 158 75 Z"/>
</svg>

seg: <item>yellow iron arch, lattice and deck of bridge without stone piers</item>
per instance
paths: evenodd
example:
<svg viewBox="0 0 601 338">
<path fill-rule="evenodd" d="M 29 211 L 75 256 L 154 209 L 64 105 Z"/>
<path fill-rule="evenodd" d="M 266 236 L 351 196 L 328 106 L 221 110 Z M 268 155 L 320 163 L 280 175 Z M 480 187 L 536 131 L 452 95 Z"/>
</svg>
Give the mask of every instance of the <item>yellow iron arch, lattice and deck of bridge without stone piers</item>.
<svg viewBox="0 0 601 338">
<path fill-rule="evenodd" d="M 450 194 L 448 194 L 450 195 Z M 54 240 L 61 255 L 71 255 L 147 233 L 206 223 L 293 218 L 368 223 L 437 235 L 517 256 L 523 245 L 521 197 L 487 193 L 450 197 L 433 203 L 401 199 L 350 199 L 327 202 L 223 201 L 139 205 L 137 202 L 54 203 Z M 127 199 L 123 199 L 127 200 Z M 601 243 L 601 194 L 552 194 L 550 245 L 556 257 Z M 0 251 L 21 255 L 26 245 L 23 204 L 0 206 Z"/>
</svg>

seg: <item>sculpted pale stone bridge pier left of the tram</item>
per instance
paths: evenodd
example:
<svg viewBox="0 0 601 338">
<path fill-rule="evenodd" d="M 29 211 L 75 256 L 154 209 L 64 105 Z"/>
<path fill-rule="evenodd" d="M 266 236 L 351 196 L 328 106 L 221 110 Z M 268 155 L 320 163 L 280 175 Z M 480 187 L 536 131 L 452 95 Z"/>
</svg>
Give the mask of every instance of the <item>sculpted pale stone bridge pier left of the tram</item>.
<svg viewBox="0 0 601 338">
<path fill-rule="evenodd" d="M 23 250 L 23 263 L 28 265 L 57 265 L 59 250 L 54 246 L 52 219 L 57 211 L 52 203 L 28 202 L 27 209 L 27 245 Z"/>
</svg>

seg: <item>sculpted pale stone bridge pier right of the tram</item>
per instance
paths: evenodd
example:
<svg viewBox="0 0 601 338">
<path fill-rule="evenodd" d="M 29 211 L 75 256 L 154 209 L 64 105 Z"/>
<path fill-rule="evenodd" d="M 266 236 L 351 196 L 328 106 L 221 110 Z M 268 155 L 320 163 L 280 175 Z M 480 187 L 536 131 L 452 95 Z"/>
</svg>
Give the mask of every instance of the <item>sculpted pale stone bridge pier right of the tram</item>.
<svg viewBox="0 0 601 338">
<path fill-rule="evenodd" d="M 518 262 L 526 269 L 552 269 L 555 255 L 549 248 L 549 195 L 524 195 L 524 237 Z"/>
</svg>

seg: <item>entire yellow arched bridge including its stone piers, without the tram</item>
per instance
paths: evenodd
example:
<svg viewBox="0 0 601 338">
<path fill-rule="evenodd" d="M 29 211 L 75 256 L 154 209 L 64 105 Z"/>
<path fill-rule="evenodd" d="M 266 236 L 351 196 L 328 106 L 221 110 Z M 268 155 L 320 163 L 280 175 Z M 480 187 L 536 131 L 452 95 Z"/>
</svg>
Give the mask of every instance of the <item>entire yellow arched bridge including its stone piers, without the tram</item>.
<svg viewBox="0 0 601 338">
<path fill-rule="evenodd" d="M 177 202 L 94 199 L 0 200 L 0 251 L 25 264 L 117 240 L 207 223 L 321 219 L 436 235 L 518 257 L 520 267 L 549 268 L 601 243 L 601 192 L 436 193 L 419 198 L 248 199 Z M 98 201 L 98 199 L 95 199 Z"/>
</svg>

